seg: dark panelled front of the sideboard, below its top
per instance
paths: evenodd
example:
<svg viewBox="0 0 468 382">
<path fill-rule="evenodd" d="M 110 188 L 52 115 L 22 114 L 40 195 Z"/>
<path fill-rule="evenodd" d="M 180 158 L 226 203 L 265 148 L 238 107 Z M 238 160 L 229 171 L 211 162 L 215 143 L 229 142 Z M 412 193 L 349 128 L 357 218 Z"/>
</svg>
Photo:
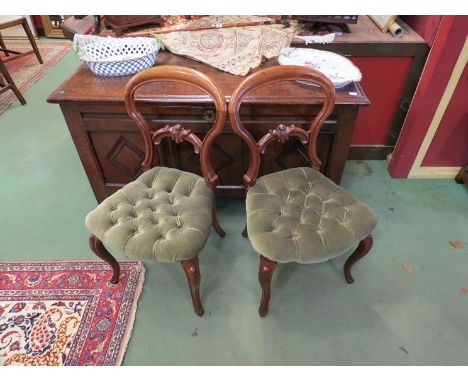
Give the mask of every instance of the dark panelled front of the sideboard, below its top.
<svg viewBox="0 0 468 382">
<path fill-rule="evenodd" d="M 201 139 L 212 126 L 214 119 L 213 110 L 206 106 L 189 108 L 151 106 L 143 107 L 141 110 L 150 122 L 152 130 L 178 123 L 191 129 Z M 125 111 L 121 108 L 110 108 L 106 111 L 107 113 L 82 113 L 82 119 L 88 141 L 97 157 L 106 192 L 110 195 L 142 173 L 141 162 L 145 153 L 143 138 Z M 246 113 L 242 119 L 257 139 L 280 123 L 305 128 L 315 112 L 310 107 L 288 107 L 279 110 L 280 116 L 268 114 L 271 111 L 271 107 L 245 109 Z M 278 112 L 278 109 L 276 111 Z M 318 148 L 323 163 L 322 171 L 326 170 L 335 132 L 332 118 L 319 135 Z M 309 166 L 306 151 L 307 147 L 294 138 L 285 145 L 273 143 L 262 157 L 260 175 L 291 167 Z M 155 153 L 154 166 L 175 167 L 201 175 L 198 155 L 193 151 L 193 146 L 187 142 L 176 144 L 164 139 Z M 220 195 L 243 196 L 245 191 L 242 190 L 242 176 L 248 166 L 249 154 L 245 144 L 234 134 L 229 124 L 213 144 L 211 155 L 219 176 Z"/>
</svg>

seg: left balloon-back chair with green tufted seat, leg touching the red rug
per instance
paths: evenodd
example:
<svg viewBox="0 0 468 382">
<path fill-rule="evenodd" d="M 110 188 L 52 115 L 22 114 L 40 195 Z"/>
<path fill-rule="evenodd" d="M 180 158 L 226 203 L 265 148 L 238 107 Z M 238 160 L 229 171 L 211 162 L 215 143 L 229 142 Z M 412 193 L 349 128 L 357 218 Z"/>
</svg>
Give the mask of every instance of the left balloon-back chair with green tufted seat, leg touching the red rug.
<svg viewBox="0 0 468 382">
<path fill-rule="evenodd" d="M 137 109 L 135 92 L 153 82 L 172 82 L 194 86 L 211 96 L 216 107 L 213 127 L 204 140 L 181 125 L 151 131 L 150 124 Z M 227 106 L 220 87 L 205 74 L 181 66 L 159 66 L 136 74 L 125 89 L 125 107 L 143 135 L 145 158 L 143 174 L 105 199 L 86 217 L 93 252 L 113 269 L 110 283 L 119 280 L 118 261 L 104 244 L 132 259 L 180 262 L 187 277 L 195 313 L 203 315 L 200 300 L 198 255 L 211 225 L 223 237 L 215 212 L 218 176 L 211 163 L 213 141 L 222 132 Z M 176 143 L 190 142 L 200 154 L 203 177 L 168 167 L 151 167 L 154 146 L 169 138 Z"/>
</svg>

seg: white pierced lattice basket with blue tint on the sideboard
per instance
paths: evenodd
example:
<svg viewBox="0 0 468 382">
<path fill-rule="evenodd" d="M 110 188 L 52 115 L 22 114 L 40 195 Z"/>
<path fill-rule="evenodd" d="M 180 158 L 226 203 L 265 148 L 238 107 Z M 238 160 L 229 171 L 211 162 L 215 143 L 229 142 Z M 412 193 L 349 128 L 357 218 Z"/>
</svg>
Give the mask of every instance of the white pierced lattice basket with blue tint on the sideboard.
<svg viewBox="0 0 468 382">
<path fill-rule="evenodd" d="M 97 76 L 127 76 L 152 67 L 161 47 L 151 37 L 99 37 L 76 34 L 73 47 Z"/>
</svg>

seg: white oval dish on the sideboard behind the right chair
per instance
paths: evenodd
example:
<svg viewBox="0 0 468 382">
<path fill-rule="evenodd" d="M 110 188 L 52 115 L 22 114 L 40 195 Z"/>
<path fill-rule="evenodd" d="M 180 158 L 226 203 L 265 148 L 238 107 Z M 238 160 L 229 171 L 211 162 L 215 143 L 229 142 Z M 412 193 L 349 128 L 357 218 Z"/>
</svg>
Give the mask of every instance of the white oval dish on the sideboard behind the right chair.
<svg viewBox="0 0 468 382">
<path fill-rule="evenodd" d="M 362 79 L 361 71 L 350 60 L 324 50 L 283 48 L 278 56 L 278 62 L 280 65 L 310 66 L 330 78 L 337 89 Z"/>
</svg>

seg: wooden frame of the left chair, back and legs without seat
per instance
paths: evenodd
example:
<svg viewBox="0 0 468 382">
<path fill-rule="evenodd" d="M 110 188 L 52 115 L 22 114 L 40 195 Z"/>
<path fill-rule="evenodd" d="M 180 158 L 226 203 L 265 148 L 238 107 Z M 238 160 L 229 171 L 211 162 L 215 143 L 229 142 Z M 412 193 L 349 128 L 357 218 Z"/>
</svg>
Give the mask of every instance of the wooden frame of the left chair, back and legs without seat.
<svg viewBox="0 0 468 382">
<path fill-rule="evenodd" d="M 141 86 L 152 82 L 183 83 L 194 86 L 211 96 L 216 107 L 216 118 L 213 127 L 208 131 L 203 141 L 192 133 L 190 129 L 185 129 L 179 124 L 173 126 L 166 125 L 156 131 L 151 131 L 148 121 L 143 114 L 138 111 L 135 104 L 135 92 Z M 147 171 L 152 167 L 154 146 L 159 145 L 162 139 L 169 138 L 176 143 L 187 141 L 193 145 L 195 153 L 200 155 L 201 171 L 205 182 L 216 194 L 218 176 L 211 162 L 211 151 L 213 142 L 216 137 L 221 134 L 226 123 L 227 105 L 226 98 L 221 88 L 215 82 L 207 75 L 192 68 L 171 65 L 154 67 L 135 75 L 128 82 L 125 88 L 125 108 L 143 135 L 145 144 L 145 158 L 141 165 L 143 171 Z M 212 224 L 218 235 L 223 237 L 225 232 L 218 222 L 215 207 L 212 211 Z M 120 267 L 117 260 L 105 249 L 102 242 L 94 235 L 90 237 L 90 247 L 98 257 L 112 266 L 114 272 L 109 282 L 118 282 Z M 198 256 L 190 260 L 181 261 L 181 265 L 190 287 L 195 313 L 201 316 L 203 315 L 203 306 L 199 294 L 200 268 Z"/>
</svg>

